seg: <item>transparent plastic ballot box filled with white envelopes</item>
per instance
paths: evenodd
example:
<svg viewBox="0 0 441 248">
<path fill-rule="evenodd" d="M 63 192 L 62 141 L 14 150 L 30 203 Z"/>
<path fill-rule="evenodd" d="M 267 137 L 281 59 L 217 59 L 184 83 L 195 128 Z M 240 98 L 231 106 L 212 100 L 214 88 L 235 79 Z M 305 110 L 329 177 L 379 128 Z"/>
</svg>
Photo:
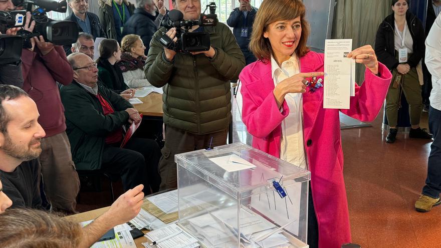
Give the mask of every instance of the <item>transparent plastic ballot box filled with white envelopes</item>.
<svg viewBox="0 0 441 248">
<path fill-rule="evenodd" d="M 201 247 L 308 247 L 309 171 L 242 143 L 175 161 L 179 225 Z"/>
</svg>

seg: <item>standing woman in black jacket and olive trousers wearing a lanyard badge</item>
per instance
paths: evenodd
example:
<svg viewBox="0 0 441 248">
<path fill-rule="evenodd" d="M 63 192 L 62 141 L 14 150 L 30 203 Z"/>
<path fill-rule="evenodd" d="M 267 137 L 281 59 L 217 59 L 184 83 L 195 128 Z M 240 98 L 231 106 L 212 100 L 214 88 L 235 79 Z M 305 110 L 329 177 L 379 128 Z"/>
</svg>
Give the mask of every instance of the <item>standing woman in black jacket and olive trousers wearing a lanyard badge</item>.
<svg viewBox="0 0 441 248">
<path fill-rule="evenodd" d="M 408 10 L 409 0 L 392 0 L 393 13 L 380 24 L 375 38 L 378 61 L 393 76 L 386 96 L 386 116 L 390 127 L 387 143 L 395 142 L 401 92 L 404 92 L 409 104 L 409 137 L 432 138 L 425 129 L 419 128 L 422 98 L 416 66 L 424 56 L 424 29 L 421 21 Z"/>
</svg>

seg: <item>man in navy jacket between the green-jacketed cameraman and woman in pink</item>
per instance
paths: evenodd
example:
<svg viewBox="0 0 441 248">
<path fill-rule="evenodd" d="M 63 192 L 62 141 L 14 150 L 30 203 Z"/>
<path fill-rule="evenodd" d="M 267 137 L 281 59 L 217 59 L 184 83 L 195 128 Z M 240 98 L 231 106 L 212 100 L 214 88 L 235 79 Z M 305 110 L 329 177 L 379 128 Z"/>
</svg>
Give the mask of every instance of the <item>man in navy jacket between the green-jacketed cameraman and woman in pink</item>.
<svg viewBox="0 0 441 248">
<path fill-rule="evenodd" d="M 253 33 L 253 23 L 257 9 L 251 6 L 249 0 L 239 0 L 239 3 L 240 7 L 231 12 L 227 24 L 233 28 L 233 34 L 245 56 L 246 64 L 249 65 L 256 61 L 256 57 L 248 49 L 248 45 Z"/>
</svg>

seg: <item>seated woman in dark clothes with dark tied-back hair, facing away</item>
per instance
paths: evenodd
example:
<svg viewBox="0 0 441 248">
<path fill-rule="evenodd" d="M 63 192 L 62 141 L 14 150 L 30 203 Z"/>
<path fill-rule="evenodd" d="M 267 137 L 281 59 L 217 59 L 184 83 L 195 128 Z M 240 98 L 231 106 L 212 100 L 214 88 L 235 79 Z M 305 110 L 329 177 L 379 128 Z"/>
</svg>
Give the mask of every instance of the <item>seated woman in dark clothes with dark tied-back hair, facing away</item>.
<svg viewBox="0 0 441 248">
<path fill-rule="evenodd" d="M 126 100 L 133 97 L 135 90 L 124 83 L 121 69 L 116 62 L 121 60 L 121 49 L 116 40 L 105 39 L 99 46 L 100 57 L 96 63 L 100 81 L 110 90 L 120 94 Z"/>
</svg>

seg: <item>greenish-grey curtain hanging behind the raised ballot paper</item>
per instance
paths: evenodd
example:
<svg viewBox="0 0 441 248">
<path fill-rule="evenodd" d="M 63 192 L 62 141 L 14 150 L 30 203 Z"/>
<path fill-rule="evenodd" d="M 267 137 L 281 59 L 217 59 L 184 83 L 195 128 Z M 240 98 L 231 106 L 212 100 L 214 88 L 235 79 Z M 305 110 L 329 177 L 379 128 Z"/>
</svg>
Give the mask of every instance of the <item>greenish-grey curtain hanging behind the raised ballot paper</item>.
<svg viewBox="0 0 441 248">
<path fill-rule="evenodd" d="M 336 0 L 332 39 L 352 39 L 352 49 L 371 45 L 380 23 L 392 13 L 390 0 Z M 365 67 L 357 64 L 355 80 L 364 80 Z"/>
</svg>

